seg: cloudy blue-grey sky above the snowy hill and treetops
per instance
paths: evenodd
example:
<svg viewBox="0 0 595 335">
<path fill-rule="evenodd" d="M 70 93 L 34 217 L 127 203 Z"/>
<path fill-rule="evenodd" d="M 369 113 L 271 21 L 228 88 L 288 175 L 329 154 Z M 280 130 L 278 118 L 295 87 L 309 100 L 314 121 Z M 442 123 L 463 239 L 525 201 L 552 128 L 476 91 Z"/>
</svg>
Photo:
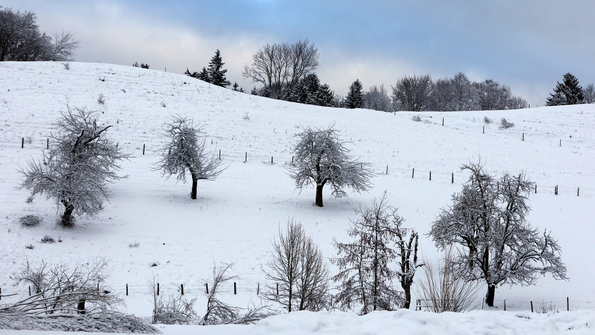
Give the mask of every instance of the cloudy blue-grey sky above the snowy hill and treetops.
<svg viewBox="0 0 595 335">
<path fill-rule="evenodd" d="M 4 0 L 36 12 L 42 30 L 73 30 L 77 61 L 183 73 L 221 50 L 227 78 L 249 90 L 242 67 L 266 43 L 309 39 L 318 75 L 345 94 L 359 79 L 390 85 L 406 74 L 508 84 L 531 106 L 562 75 L 595 82 L 595 1 L 38 1 Z"/>
</svg>

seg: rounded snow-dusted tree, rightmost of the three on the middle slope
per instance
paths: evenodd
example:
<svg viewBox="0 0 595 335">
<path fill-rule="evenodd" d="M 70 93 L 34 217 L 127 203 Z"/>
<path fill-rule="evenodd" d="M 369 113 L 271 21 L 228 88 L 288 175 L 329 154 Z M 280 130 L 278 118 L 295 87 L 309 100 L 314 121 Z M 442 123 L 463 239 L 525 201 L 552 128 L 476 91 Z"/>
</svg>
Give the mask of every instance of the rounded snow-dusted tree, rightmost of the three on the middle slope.
<svg viewBox="0 0 595 335">
<path fill-rule="evenodd" d="M 330 183 L 333 196 L 347 196 L 345 187 L 353 192 L 368 190 L 369 179 L 373 176 L 368 163 L 359 162 L 349 156 L 345 148 L 347 142 L 339 139 L 332 126 L 326 129 L 306 128 L 295 134 L 298 138 L 293 147 L 295 161 L 290 164 L 289 176 L 295 180 L 296 189 L 313 185 L 316 187 L 317 206 L 322 207 L 322 188 Z"/>
</svg>

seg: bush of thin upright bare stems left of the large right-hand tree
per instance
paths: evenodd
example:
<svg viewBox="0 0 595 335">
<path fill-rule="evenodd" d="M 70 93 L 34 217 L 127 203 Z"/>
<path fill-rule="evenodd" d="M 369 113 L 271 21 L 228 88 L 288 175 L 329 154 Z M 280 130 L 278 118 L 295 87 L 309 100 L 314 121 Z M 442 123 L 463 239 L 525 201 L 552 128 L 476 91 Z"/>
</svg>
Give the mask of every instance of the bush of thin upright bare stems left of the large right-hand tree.
<svg viewBox="0 0 595 335">
<path fill-rule="evenodd" d="M 417 296 L 423 298 L 420 307 L 434 313 L 466 312 L 473 308 L 479 284 L 459 275 L 454 259 L 452 247 L 444 249 L 444 266 L 437 274 L 431 262 L 424 259 L 425 281 L 420 281 L 417 289 Z"/>
</svg>

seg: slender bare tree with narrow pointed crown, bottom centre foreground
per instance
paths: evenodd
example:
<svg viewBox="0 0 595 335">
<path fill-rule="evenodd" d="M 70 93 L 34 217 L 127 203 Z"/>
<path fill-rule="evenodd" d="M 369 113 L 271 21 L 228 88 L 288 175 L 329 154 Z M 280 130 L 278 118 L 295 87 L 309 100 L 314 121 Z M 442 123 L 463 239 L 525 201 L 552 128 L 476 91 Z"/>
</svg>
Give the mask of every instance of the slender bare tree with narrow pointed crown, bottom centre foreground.
<svg viewBox="0 0 595 335">
<path fill-rule="evenodd" d="M 279 303 L 287 312 L 320 311 L 330 305 L 328 266 L 300 223 L 289 220 L 285 233 L 279 231 L 273 241 L 271 252 L 269 269 L 262 269 L 270 281 L 265 299 Z"/>
</svg>

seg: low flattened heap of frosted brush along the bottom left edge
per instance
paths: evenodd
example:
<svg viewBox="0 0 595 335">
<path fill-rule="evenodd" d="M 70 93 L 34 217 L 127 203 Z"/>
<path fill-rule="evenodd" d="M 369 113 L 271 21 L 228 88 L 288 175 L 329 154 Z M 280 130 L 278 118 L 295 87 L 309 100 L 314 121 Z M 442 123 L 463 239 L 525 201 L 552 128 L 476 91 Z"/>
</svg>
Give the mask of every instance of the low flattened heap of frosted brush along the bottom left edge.
<svg viewBox="0 0 595 335">
<path fill-rule="evenodd" d="M 25 312 L 0 312 L 0 329 L 43 331 L 87 331 L 93 333 L 161 333 L 145 320 L 119 312 L 101 312 L 92 315 L 73 314 L 68 317 L 55 314 L 36 317 Z"/>
</svg>

